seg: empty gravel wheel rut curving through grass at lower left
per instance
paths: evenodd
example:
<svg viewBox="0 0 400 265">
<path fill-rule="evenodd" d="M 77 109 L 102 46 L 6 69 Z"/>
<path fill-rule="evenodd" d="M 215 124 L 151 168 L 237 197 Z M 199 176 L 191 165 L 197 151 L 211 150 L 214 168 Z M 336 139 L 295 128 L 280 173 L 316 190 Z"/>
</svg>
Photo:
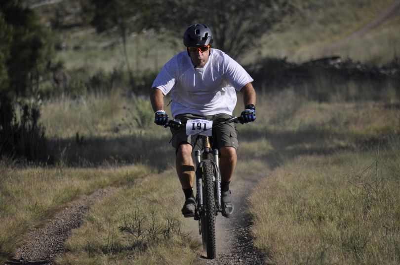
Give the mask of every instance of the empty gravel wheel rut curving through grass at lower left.
<svg viewBox="0 0 400 265">
<path fill-rule="evenodd" d="M 80 226 L 90 206 L 110 195 L 117 188 L 105 188 L 91 195 L 81 196 L 57 213 L 43 228 L 28 233 L 25 244 L 5 264 L 52 264 L 56 254 L 64 252 L 64 242 L 71 231 Z"/>
</svg>

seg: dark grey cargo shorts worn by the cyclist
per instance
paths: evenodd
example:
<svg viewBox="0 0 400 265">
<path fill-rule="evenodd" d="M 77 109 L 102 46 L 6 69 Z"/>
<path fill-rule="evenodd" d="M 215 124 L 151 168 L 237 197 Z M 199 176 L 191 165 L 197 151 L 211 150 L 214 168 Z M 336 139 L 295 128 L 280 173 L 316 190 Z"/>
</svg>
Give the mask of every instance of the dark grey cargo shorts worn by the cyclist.
<svg viewBox="0 0 400 265">
<path fill-rule="evenodd" d="M 206 119 L 212 120 L 213 126 L 218 123 L 224 122 L 225 120 L 232 118 L 231 115 L 228 114 L 216 114 L 211 116 L 201 116 L 201 115 L 193 115 L 193 114 L 180 114 L 175 117 L 175 119 L 181 120 L 182 123 L 187 120 L 195 120 L 195 119 Z M 172 147 L 178 148 L 178 146 L 182 143 L 190 143 L 194 146 L 196 136 L 188 136 L 186 135 L 186 128 L 171 128 L 172 133 Z M 238 149 L 239 142 L 238 136 L 236 134 L 235 123 L 228 123 L 218 126 L 212 130 L 212 147 L 213 148 L 221 148 L 221 147 L 234 147 Z"/>
</svg>

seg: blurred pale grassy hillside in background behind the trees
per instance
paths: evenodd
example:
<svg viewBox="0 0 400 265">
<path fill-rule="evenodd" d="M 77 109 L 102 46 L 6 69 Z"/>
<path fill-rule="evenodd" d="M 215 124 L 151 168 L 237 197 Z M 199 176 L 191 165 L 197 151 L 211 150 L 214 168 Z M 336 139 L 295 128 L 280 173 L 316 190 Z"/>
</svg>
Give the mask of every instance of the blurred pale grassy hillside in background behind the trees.
<svg viewBox="0 0 400 265">
<path fill-rule="evenodd" d="M 106 71 L 123 64 L 116 36 L 99 35 L 88 25 L 84 6 L 78 0 L 26 1 L 54 28 L 58 58 L 67 68 L 100 67 Z M 248 51 L 242 63 L 260 58 L 287 58 L 304 62 L 320 57 L 340 56 L 368 65 L 392 62 L 400 51 L 399 0 L 307 0 L 290 1 L 293 11 L 263 44 Z M 234 17 L 232 18 L 234 19 Z M 260 30 L 263 30 L 260 25 Z M 182 32 L 184 29 L 182 29 Z M 177 36 L 180 36 L 178 33 Z M 135 70 L 159 69 L 183 45 L 178 38 L 172 46 L 168 38 L 146 32 L 129 37 L 128 53 Z"/>
</svg>

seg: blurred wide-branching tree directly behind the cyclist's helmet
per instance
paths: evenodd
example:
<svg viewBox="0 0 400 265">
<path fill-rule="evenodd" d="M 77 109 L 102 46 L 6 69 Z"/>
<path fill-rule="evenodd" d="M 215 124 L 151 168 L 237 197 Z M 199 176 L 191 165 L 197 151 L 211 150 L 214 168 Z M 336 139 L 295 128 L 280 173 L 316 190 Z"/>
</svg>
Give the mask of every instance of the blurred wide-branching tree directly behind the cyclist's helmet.
<svg viewBox="0 0 400 265">
<path fill-rule="evenodd" d="M 288 0 L 159 1 L 155 18 L 161 28 L 176 35 L 191 24 L 205 24 L 213 32 L 213 46 L 236 59 L 257 47 L 261 37 L 291 11 Z"/>
</svg>

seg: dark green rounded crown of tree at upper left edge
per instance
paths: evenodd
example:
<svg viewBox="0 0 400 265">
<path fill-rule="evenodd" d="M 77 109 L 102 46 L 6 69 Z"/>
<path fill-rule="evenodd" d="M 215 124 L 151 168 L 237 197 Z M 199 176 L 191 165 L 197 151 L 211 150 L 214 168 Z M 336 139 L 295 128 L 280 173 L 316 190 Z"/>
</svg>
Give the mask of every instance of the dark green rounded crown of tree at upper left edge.
<svg viewBox="0 0 400 265">
<path fill-rule="evenodd" d="M 6 89 L 13 96 L 38 92 L 53 55 L 50 33 L 36 13 L 17 0 L 1 0 L 0 28 L 0 38 L 5 40 L 0 44 L 0 71 L 4 62 L 7 69 L 2 91 Z M 4 80 L 1 73 L 0 80 Z"/>
</svg>

